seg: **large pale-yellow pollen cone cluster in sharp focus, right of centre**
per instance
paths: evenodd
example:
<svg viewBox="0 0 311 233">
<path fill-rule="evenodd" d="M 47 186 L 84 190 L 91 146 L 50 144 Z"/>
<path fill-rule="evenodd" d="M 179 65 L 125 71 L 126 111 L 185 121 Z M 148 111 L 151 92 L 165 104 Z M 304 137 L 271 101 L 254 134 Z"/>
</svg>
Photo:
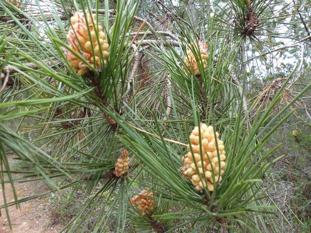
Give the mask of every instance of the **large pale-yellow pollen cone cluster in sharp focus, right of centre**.
<svg viewBox="0 0 311 233">
<path fill-rule="evenodd" d="M 213 126 L 207 126 L 201 123 L 201 138 L 199 137 L 199 128 L 194 127 L 192 134 L 190 135 L 191 147 L 193 149 L 194 156 L 188 150 L 188 153 L 182 158 L 184 162 L 181 172 L 183 176 L 190 180 L 197 190 L 202 190 L 203 187 L 207 187 L 209 191 L 214 190 L 213 177 L 215 182 L 218 182 L 218 175 L 224 173 L 226 166 L 225 161 L 225 151 L 224 143 L 218 137 L 219 134 L 216 132 L 216 139 L 214 136 Z M 219 157 L 217 155 L 216 140 L 219 149 Z M 202 145 L 203 161 L 200 155 L 200 141 Z M 188 147 L 189 149 L 189 147 Z M 195 162 L 197 163 L 198 170 L 196 169 Z M 220 169 L 219 169 L 220 165 Z M 203 175 L 203 167 L 205 171 L 206 181 Z M 212 169 L 213 168 L 213 169 Z M 200 180 L 200 175 L 202 177 L 203 183 Z M 221 176 L 219 182 L 221 181 Z"/>
</svg>

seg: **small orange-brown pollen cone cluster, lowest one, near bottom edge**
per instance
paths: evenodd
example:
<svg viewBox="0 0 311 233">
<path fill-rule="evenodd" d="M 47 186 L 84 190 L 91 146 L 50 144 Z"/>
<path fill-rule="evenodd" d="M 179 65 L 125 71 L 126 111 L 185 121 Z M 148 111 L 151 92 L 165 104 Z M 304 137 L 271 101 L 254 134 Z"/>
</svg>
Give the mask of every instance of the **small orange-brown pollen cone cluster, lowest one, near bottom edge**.
<svg viewBox="0 0 311 233">
<path fill-rule="evenodd" d="M 130 199 L 132 205 L 135 205 L 137 203 L 137 209 L 139 211 L 142 211 L 142 215 L 146 215 L 146 213 L 152 212 L 153 211 L 153 199 L 148 198 L 148 197 L 143 197 L 140 195 L 145 195 L 145 196 L 150 196 L 153 197 L 152 192 L 147 192 L 146 190 L 142 190 L 139 195 L 135 195 Z"/>
</svg>

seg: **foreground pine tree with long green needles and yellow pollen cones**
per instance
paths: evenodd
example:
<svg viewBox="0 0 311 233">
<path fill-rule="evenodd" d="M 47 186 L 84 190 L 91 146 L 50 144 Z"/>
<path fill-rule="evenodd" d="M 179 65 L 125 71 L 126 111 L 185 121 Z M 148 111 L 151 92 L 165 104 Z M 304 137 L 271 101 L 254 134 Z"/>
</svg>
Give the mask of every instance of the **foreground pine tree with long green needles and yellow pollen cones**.
<svg viewBox="0 0 311 233">
<path fill-rule="evenodd" d="M 265 201 L 281 157 L 267 163 L 264 145 L 311 84 L 273 113 L 297 61 L 251 116 L 262 96 L 246 102 L 244 61 L 248 44 L 271 52 L 260 37 L 289 5 L 214 2 L 193 17 L 196 1 L 34 2 L 0 0 L 0 180 L 15 193 L 0 208 L 85 184 L 67 232 L 280 232 Z M 19 200 L 14 183 L 34 180 L 49 191 Z"/>
</svg>

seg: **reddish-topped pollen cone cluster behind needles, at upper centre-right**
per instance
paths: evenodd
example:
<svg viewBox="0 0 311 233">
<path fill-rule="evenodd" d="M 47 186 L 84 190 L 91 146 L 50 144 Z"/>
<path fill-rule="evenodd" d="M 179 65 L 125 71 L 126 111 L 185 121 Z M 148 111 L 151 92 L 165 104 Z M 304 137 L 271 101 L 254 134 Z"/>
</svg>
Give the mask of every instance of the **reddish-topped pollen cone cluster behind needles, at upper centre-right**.
<svg viewBox="0 0 311 233">
<path fill-rule="evenodd" d="M 188 46 L 190 48 L 190 46 Z M 194 47 L 197 47 L 197 45 L 194 45 Z M 201 61 L 202 61 L 202 65 L 204 67 L 204 70 L 206 70 L 206 62 L 207 62 L 207 58 L 208 58 L 208 50 L 207 50 L 207 44 L 205 44 L 203 41 L 199 41 L 199 50 L 200 50 L 200 54 L 201 54 Z M 197 61 L 195 59 L 195 55 L 193 54 L 193 52 L 188 49 L 187 50 L 187 55 L 185 57 L 185 63 L 186 65 L 191 69 L 191 67 L 193 67 L 193 71 L 195 75 L 200 74 L 200 70 L 199 67 L 197 65 Z M 200 56 L 197 54 L 197 56 L 200 58 Z M 185 69 L 185 67 L 182 67 L 183 69 Z"/>
</svg>

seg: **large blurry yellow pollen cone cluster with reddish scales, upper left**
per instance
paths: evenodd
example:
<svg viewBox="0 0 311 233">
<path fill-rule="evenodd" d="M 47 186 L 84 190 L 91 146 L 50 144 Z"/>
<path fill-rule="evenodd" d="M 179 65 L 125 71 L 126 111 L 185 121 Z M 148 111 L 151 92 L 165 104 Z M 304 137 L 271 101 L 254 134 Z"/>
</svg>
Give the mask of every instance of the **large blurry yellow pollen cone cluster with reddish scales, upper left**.
<svg viewBox="0 0 311 233">
<path fill-rule="evenodd" d="M 109 44 L 105 40 L 106 35 L 102 31 L 103 27 L 97 25 L 94 18 L 95 15 L 90 16 L 88 13 L 85 18 L 83 12 L 76 12 L 75 15 L 70 18 L 72 26 L 67 34 L 69 46 L 72 50 L 81 54 L 81 56 L 91 64 L 91 67 L 88 67 L 72 52 L 64 49 L 65 56 L 70 66 L 72 66 L 75 71 L 78 71 L 78 75 L 84 75 L 88 68 L 92 69 L 93 67 L 100 71 L 100 48 L 104 57 L 104 64 L 106 64 L 106 57 L 109 55 L 109 52 L 107 52 Z M 93 22 L 96 30 L 93 26 Z M 90 32 L 88 31 L 87 25 L 89 25 Z M 96 33 L 98 33 L 98 40 Z"/>
</svg>

